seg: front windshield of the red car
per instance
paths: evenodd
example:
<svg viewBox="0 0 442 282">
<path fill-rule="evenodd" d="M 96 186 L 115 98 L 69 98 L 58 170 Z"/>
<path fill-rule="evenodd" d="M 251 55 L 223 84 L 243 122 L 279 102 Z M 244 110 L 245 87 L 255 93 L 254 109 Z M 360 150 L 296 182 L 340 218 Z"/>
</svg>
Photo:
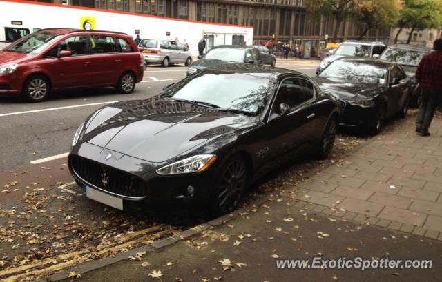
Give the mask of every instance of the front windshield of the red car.
<svg viewBox="0 0 442 282">
<path fill-rule="evenodd" d="M 19 41 L 12 43 L 4 51 L 26 53 L 26 54 L 39 54 L 50 43 L 61 37 L 60 34 L 52 32 L 37 32 L 30 34 L 27 37 L 23 37 Z"/>
</svg>

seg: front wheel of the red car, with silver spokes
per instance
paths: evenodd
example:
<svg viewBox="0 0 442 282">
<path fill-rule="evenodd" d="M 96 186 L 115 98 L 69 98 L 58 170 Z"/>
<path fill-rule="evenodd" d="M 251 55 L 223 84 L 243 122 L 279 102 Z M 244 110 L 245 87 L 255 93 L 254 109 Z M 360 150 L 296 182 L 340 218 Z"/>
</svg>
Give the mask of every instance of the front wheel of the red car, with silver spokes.
<svg viewBox="0 0 442 282">
<path fill-rule="evenodd" d="M 46 100 L 50 94 L 49 80 L 42 75 L 33 75 L 23 85 L 23 98 L 28 102 L 37 103 Z"/>
</svg>

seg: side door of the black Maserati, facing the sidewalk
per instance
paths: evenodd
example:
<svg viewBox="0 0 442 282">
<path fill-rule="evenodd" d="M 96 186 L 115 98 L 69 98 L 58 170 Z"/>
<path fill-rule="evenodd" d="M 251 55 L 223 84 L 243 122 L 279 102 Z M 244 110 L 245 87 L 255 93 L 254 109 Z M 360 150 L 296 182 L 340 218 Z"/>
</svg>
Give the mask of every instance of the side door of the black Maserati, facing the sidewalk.
<svg viewBox="0 0 442 282">
<path fill-rule="evenodd" d="M 314 92 L 306 91 L 298 77 L 288 77 L 280 83 L 269 114 L 268 128 L 274 155 L 291 154 L 296 157 L 309 147 L 310 130 L 314 126 L 314 113 L 310 102 Z M 280 105 L 289 106 L 286 116 L 280 115 Z"/>
</svg>

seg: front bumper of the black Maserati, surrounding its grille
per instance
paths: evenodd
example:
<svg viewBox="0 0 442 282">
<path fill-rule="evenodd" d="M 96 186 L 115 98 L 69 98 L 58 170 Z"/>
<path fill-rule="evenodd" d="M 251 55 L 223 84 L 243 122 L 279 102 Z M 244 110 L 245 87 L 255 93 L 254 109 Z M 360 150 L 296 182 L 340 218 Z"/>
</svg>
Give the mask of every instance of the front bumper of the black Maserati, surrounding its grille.
<svg viewBox="0 0 442 282">
<path fill-rule="evenodd" d="M 112 157 L 106 161 L 110 154 Z M 200 174 L 160 176 L 155 170 L 163 165 L 166 164 L 149 163 L 90 143 L 78 144 L 68 157 L 70 173 L 82 188 L 87 185 L 118 197 L 123 200 L 124 208 L 184 208 L 208 199 L 216 163 Z M 108 183 L 104 185 L 103 180 Z M 189 192 L 191 190 L 193 192 Z"/>
</svg>

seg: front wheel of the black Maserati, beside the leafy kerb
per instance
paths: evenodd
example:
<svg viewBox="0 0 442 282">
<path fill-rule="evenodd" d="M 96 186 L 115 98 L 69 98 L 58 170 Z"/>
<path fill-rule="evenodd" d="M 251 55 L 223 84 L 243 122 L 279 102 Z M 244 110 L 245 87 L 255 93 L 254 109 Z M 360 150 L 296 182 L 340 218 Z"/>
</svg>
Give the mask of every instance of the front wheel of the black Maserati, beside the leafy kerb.
<svg viewBox="0 0 442 282">
<path fill-rule="evenodd" d="M 233 157 L 223 165 L 215 182 L 213 212 L 227 214 L 235 210 L 246 188 L 246 162 L 241 157 Z"/>
</svg>

